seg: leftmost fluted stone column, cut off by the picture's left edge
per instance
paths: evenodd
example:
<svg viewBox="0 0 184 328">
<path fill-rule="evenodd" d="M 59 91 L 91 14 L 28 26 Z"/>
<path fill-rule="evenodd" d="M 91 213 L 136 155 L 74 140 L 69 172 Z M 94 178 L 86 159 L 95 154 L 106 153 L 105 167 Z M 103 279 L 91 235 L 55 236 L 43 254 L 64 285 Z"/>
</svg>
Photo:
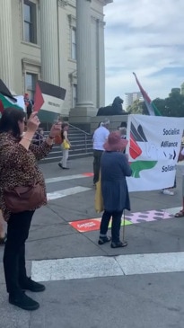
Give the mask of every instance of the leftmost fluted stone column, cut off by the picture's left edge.
<svg viewBox="0 0 184 328">
<path fill-rule="evenodd" d="M 1 0 L 0 14 L 0 78 L 4 84 L 14 90 L 13 72 L 13 31 L 12 31 L 12 2 Z"/>
</svg>

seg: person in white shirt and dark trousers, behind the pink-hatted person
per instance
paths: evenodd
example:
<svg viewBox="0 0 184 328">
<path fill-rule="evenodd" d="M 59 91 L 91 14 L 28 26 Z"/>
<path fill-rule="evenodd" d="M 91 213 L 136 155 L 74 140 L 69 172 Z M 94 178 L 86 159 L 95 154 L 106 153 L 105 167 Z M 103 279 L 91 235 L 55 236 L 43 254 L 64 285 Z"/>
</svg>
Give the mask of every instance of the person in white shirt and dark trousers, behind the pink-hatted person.
<svg viewBox="0 0 184 328">
<path fill-rule="evenodd" d="M 104 151 L 104 143 L 110 134 L 110 120 L 104 119 L 98 129 L 95 129 L 92 142 L 93 142 L 93 184 L 99 181 L 99 173 L 101 168 L 101 155 Z"/>
</svg>

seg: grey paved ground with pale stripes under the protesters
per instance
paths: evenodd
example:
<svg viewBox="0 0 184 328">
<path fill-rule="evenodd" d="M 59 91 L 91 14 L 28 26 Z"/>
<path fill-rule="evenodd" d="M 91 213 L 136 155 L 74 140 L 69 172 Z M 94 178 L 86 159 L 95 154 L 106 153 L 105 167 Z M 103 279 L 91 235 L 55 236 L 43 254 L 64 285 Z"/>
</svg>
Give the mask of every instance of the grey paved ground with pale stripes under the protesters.
<svg viewBox="0 0 184 328">
<path fill-rule="evenodd" d="M 0 327 L 183 327 L 184 220 L 173 217 L 181 202 L 181 166 L 174 196 L 130 194 L 128 245 L 117 250 L 97 244 L 97 229 L 80 232 L 71 225 L 100 217 L 93 207 L 92 157 L 71 161 L 68 171 L 40 166 L 50 200 L 34 215 L 26 251 L 28 270 L 47 289 L 28 293 L 40 303 L 33 313 L 10 306 L 0 247 Z"/>
</svg>

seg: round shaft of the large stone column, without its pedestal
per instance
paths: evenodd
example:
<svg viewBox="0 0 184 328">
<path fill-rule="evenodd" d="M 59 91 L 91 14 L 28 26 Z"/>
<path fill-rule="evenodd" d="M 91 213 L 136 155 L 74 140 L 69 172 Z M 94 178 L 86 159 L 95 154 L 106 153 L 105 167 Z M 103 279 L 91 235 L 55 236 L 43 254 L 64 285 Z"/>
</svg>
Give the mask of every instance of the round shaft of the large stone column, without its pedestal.
<svg viewBox="0 0 184 328">
<path fill-rule="evenodd" d="M 76 1 L 76 107 L 93 106 L 91 74 L 91 0 Z"/>
</svg>

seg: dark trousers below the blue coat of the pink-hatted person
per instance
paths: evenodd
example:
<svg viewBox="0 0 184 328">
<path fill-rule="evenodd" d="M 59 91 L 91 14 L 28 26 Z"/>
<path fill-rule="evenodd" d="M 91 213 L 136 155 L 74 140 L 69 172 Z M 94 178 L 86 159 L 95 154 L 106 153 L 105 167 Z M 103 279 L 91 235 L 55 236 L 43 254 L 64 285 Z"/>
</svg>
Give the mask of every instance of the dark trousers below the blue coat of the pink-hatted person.
<svg viewBox="0 0 184 328">
<path fill-rule="evenodd" d="M 105 236 L 108 232 L 108 226 L 110 223 L 110 217 L 112 217 L 112 226 L 111 226 L 111 236 L 112 243 L 118 243 L 120 240 L 120 227 L 121 227 L 121 217 L 123 215 L 122 211 L 108 212 L 104 210 L 101 217 L 101 227 L 100 227 L 100 236 Z"/>
</svg>

